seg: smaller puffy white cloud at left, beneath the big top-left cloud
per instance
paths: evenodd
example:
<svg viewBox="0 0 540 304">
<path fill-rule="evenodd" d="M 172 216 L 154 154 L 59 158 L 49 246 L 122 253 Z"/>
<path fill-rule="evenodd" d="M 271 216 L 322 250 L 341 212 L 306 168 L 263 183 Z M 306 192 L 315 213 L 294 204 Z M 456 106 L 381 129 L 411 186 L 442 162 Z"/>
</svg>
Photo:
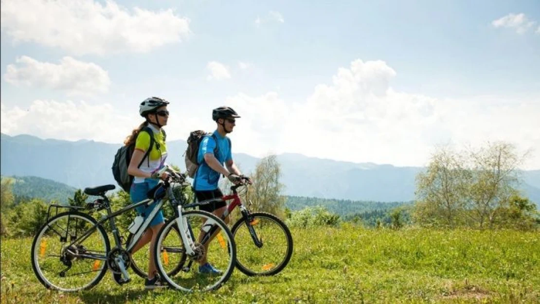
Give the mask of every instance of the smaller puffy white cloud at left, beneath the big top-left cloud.
<svg viewBox="0 0 540 304">
<path fill-rule="evenodd" d="M 14 85 L 63 90 L 70 95 L 91 95 L 109 91 L 109 73 L 97 64 L 64 57 L 60 64 L 39 62 L 28 56 L 6 68 L 4 79 Z"/>
</svg>

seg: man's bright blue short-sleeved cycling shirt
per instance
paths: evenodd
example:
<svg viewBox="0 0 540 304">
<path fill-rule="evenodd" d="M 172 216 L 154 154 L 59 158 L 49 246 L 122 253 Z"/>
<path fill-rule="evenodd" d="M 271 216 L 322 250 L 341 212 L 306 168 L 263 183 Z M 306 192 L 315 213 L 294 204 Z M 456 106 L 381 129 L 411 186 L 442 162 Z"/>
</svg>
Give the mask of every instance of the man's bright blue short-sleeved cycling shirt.
<svg viewBox="0 0 540 304">
<path fill-rule="evenodd" d="M 216 142 L 214 137 L 218 139 L 218 149 L 215 154 Z M 200 165 L 197 168 L 197 173 L 195 173 L 195 179 L 193 181 L 193 188 L 197 191 L 215 190 L 218 188 L 219 175 L 221 173 L 214 171 L 206 164 L 204 160 L 204 154 L 206 153 L 214 154 L 220 164 L 224 164 L 233 158 L 231 144 L 226 137 L 221 136 L 217 130 L 214 131 L 214 136 L 205 136 L 199 146 L 197 161 Z"/>
</svg>

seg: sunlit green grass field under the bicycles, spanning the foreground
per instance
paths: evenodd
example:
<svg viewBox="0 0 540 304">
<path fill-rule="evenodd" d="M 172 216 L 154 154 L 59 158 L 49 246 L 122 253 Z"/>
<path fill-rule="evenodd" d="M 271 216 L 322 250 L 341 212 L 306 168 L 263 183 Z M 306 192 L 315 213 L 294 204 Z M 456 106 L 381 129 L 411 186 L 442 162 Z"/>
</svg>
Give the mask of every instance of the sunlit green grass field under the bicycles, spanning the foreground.
<svg viewBox="0 0 540 304">
<path fill-rule="evenodd" d="M 235 271 L 218 291 L 146 292 L 107 273 L 90 291 L 46 290 L 32 272 L 32 239 L 3 239 L 2 303 L 538 303 L 540 233 L 291 229 L 295 248 L 280 274 Z M 134 274 L 133 274 L 134 275 Z"/>
</svg>

